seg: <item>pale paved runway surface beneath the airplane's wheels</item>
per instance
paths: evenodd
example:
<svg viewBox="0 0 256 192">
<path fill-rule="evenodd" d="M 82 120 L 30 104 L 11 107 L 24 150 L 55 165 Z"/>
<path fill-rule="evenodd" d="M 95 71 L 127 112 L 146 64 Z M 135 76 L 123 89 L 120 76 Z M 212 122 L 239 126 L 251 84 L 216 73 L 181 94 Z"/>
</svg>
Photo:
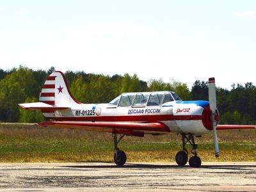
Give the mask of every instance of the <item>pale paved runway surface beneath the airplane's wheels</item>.
<svg viewBox="0 0 256 192">
<path fill-rule="evenodd" d="M 0 163 L 1 191 L 256 191 L 256 163 Z"/>
</svg>

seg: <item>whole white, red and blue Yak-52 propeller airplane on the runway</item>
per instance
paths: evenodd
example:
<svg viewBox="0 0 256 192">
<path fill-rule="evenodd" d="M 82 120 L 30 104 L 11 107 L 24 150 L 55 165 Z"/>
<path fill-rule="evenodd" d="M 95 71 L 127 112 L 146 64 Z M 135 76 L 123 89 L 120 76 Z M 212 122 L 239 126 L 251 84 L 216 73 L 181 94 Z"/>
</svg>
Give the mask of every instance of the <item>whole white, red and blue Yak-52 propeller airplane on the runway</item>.
<svg viewBox="0 0 256 192">
<path fill-rule="evenodd" d="M 125 152 L 118 148 L 124 136 L 180 134 L 182 150 L 175 156 L 176 163 L 184 166 L 189 161 L 189 166 L 198 168 L 202 161 L 195 136 L 213 132 L 215 156 L 219 157 L 216 130 L 256 129 L 256 125 L 218 125 L 214 77 L 209 78 L 209 101 L 183 101 L 175 92 L 162 91 L 122 93 L 109 103 L 82 104 L 72 96 L 64 74 L 55 71 L 47 77 L 39 102 L 19 106 L 41 110 L 45 117 L 54 120 L 35 124 L 38 126 L 112 133 L 114 161 L 118 166 L 127 160 Z M 189 160 L 186 144 L 192 147 Z"/>
</svg>

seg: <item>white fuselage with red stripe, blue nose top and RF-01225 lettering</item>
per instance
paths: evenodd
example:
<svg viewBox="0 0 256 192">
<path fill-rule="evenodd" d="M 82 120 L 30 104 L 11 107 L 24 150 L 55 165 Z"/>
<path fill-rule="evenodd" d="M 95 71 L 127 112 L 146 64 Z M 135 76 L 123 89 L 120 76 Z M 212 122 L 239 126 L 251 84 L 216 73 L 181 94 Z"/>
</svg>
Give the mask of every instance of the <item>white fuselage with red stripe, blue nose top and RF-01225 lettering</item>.
<svg viewBox="0 0 256 192">
<path fill-rule="evenodd" d="M 161 122 L 170 132 L 184 132 L 202 135 L 211 132 L 206 129 L 202 118 L 207 103 L 167 102 L 163 106 L 116 107 L 111 104 L 73 104 L 67 110 L 44 113 L 48 118 L 76 122 Z M 52 111 L 53 112 L 53 111 Z M 157 131 L 147 131 L 145 133 Z M 166 132 L 168 133 L 168 132 Z"/>
</svg>

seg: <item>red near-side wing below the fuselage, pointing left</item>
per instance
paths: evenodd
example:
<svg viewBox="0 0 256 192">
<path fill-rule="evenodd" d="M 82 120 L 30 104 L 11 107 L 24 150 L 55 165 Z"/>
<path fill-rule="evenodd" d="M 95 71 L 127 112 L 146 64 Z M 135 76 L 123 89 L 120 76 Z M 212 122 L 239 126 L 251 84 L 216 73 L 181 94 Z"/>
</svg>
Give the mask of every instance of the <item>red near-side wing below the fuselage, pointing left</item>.
<svg viewBox="0 0 256 192">
<path fill-rule="evenodd" d="M 116 132 L 132 136 L 144 136 L 144 133 L 164 134 L 170 129 L 163 123 L 103 123 L 103 122 L 43 122 L 35 124 L 43 127 L 81 129 L 86 131 Z"/>
</svg>

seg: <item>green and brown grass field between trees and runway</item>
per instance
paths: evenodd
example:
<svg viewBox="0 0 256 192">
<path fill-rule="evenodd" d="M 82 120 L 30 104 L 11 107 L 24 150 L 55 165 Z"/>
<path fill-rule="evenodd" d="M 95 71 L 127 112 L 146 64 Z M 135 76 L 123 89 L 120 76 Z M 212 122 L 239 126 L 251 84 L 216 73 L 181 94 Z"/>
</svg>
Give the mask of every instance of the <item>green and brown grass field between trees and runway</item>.
<svg viewBox="0 0 256 192">
<path fill-rule="evenodd" d="M 214 157 L 212 134 L 196 138 L 202 161 L 256 161 L 256 130 L 218 131 L 220 158 Z M 118 147 L 127 161 L 174 162 L 181 136 L 125 136 Z M 109 133 L 0 124 L 0 162 L 113 161 Z M 188 146 L 189 150 L 190 147 Z"/>
</svg>

